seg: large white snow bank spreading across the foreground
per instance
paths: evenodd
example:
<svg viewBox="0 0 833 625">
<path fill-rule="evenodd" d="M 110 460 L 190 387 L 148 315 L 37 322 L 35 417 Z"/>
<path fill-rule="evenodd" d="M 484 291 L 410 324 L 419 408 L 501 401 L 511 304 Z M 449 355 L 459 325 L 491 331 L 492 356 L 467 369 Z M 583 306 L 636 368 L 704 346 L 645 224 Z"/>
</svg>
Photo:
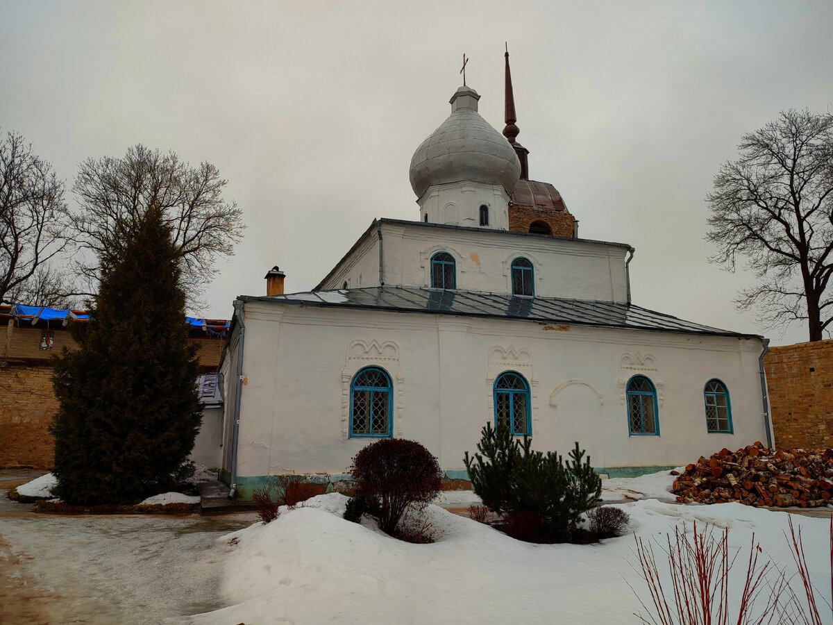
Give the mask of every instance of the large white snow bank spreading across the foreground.
<svg viewBox="0 0 833 625">
<path fill-rule="evenodd" d="M 658 488 L 660 482 L 644 479 L 632 490 Z M 695 521 L 698 527 L 731 528 L 731 547 L 742 549 L 732 569 L 736 593 L 753 532 L 776 562 L 790 572 L 794 566 L 783 534 L 789 515 L 737 503 L 682 506 L 648 499 L 618 504 L 631 515 L 631 533 L 590 545 L 519 542 L 432 505 L 424 514 L 438 540 L 415 545 L 368 527 L 372 522 L 345 521 L 346 502 L 339 493 L 321 495 L 274 522 L 219 539 L 227 607 L 197 615 L 194 622 L 636 622 L 632 615 L 645 610 L 631 586 L 643 600 L 650 597 L 633 568 L 633 532 L 661 540 L 674 527 Z M 811 577 L 829 601 L 829 522 L 793 518 L 810 547 Z M 661 547 L 655 544 L 654 550 L 666 574 Z M 736 605 L 739 597 L 732 595 L 731 601 Z"/>
</svg>

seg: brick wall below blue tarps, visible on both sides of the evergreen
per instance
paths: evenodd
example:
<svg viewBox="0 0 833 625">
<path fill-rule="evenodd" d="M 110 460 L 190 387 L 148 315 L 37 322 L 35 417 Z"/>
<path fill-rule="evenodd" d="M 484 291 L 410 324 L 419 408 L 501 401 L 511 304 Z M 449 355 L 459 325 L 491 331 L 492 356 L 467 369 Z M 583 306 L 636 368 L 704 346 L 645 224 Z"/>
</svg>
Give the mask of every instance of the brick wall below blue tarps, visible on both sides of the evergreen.
<svg viewBox="0 0 833 625">
<path fill-rule="evenodd" d="M 49 358 L 75 342 L 66 328 L 56 328 L 52 349 L 41 349 L 42 328 L 3 328 L 5 345 L 0 358 L 0 467 L 52 468 L 55 448 L 49 424 L 57 411 L 52 394 Z M 199 346 L 197 358 L 203 371 L 214 371 L 225 340 L 192 338 Z M 6 351 L 7 350 L 7 351 Z"/>
</svg>

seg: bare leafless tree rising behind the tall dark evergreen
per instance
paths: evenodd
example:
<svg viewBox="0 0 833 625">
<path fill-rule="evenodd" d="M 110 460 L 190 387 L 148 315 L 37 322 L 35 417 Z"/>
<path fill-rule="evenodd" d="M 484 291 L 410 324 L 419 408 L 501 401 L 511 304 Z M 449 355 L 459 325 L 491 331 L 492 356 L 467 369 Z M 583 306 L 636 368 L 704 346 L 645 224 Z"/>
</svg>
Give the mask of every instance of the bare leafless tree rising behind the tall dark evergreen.
<svg viewBox="0 0 833 625">
<path fill-rule="evenodd" d="M 191 167 L 175 153 L 151 151 L 142 145 L 124 158 L 88 158 L 72 186 L 80 210 L 72 212 L 72 238 L 96 258 L 76 259 L 86 288 L 96 290 L 98 262 L 120 258 L 127 233 L 142 223 L 147 208 L 162 208 L 164 221 L 182 263 L 183 285 L 194 303 L 217 274 L 214 263 L 231 256 L 242 240 L 242 211 L 222 198 L 227 184 L 211 163 Z"/>
</svg>

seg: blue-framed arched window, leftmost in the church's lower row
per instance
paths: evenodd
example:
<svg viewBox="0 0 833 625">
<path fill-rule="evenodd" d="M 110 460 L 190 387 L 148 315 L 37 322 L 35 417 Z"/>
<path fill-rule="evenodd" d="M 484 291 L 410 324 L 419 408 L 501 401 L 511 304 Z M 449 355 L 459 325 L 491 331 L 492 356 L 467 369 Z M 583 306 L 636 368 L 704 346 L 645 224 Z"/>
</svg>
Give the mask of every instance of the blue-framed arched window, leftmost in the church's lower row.
<svg viewBox="0 0 833 625">
<path fill-rule="evenodd" d="M 350 436 L 390 437 L 393 385 L 387 371 L 366 367 L 350 383 Z"/>
</svg>

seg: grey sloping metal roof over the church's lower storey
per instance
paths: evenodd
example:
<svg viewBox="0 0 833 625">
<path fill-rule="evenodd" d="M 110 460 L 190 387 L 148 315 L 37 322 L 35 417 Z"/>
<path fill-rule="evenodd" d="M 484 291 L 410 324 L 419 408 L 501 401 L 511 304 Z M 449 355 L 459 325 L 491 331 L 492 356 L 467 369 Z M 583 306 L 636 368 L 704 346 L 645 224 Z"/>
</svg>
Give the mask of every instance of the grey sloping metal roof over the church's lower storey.
<svg viewBox="0 0 833 625">
<path fill-rule="evenodd" d="M 467 317 L 524 319 L 543 323 L 564 323 L 654 332 L 710 334 L 726 337 L 757 337 L 699 323 L 691 323 L 627 303 L 594 302 L 561 298 L 518 298 L 498 293 L 444 291 L 419 287 L 369 287 L 332 291 L 310 291 L 272 297 L 241 296 L 246 302 L 361 308 L 397 313 L 433 313 Z"/>
</svg>

